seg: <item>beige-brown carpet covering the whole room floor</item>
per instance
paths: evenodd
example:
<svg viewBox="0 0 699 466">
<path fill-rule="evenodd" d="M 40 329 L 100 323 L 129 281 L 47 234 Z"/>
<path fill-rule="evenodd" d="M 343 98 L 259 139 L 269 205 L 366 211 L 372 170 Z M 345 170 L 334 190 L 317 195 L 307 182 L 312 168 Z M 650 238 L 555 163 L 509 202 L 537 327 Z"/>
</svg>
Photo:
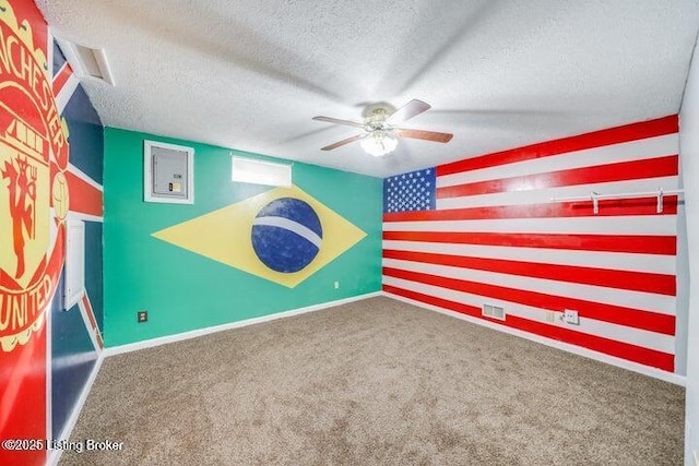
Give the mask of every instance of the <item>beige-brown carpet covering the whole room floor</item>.
<svg viewBox="0 0 699 466">
<path fill-rule="evenodd" d="M 684 389 L 372 298 L 107 358 L 62 465 L 680 465 Z"/>
</svg>

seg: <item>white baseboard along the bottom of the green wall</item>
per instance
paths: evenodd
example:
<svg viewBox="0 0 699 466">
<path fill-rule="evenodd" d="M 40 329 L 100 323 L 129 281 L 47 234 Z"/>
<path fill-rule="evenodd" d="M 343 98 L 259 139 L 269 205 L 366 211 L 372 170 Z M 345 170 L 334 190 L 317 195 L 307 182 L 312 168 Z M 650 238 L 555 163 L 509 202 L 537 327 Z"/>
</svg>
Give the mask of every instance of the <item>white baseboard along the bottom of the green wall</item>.
<svg viewBox="0 0 699 466">
<path fill-rule="evenodd" d="M 111 348 L 105 348 L 102 355 L 107 358 L 109 356 L 121 355 L 123 353 L 137 351 L 139 349 L 152 348 L 155 346 L 166 345 L 168 343 L 181 342 L 183 339 L 196 338 L 198 336 L 209 335 L 211 333 L 223 332 L 233 328 L 239 328 L 248 325 L 259 324 L 262 322 L 275 321 L 277 319 L 291 318 L 293 315 L 305 314 L 307 312 L 320 311 L 327 308 L 333 308 L 335 306 L 346 304 L 354 301 L 362 301 L 368 298 L 375 298 L 377 296 L 383 296 L 383 291 L 367 292 L 365 295 L 353 296 L 350 298 L 339 299 L 336 301 L 322 302 L 320 304 L 307 306 L 305 308 L 292 309 L 288 311 L 276 312 L 274 314 L 262 315 L 259 318 L 246 319 L 242 321 L 230 322 L 227 324 L 214 325 L 205 328 L 192 330 L 189 332 L 182 332 L 175 335 L 161 336 L 157 338 L 144 339 L 142 342 L 128 343 L 126 345 L 119 345 Z"/>
</svg>

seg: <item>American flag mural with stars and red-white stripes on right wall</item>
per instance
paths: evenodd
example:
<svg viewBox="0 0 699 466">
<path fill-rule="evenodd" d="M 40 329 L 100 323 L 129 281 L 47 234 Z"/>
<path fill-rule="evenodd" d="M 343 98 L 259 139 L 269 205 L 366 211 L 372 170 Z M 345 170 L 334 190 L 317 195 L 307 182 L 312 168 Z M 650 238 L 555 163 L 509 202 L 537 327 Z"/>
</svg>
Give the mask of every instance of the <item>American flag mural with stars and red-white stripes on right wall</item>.
<svg viewBox="0 0 699 466">
<path fill-rule="evenodd" d="M 678 188 L 677 116 L 389 177 L 383 290 L 673 372 L 677 196 L 550 202 L 659 188 Z"/>
</svg>

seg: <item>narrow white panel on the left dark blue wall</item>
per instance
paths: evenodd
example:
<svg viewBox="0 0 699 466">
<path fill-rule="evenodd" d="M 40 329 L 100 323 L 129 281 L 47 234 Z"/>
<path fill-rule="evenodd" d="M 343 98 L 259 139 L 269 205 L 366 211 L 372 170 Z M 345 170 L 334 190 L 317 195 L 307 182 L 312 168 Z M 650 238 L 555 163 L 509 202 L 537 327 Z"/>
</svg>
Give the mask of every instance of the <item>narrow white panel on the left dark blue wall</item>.
<svg viewBox="0 0 699 466">
<path fill-rule="evenodd" d="M 66 223 L 64 307 L 71 309 L 85 289 L 85 223 L 68 218 Z"/>
</svg>

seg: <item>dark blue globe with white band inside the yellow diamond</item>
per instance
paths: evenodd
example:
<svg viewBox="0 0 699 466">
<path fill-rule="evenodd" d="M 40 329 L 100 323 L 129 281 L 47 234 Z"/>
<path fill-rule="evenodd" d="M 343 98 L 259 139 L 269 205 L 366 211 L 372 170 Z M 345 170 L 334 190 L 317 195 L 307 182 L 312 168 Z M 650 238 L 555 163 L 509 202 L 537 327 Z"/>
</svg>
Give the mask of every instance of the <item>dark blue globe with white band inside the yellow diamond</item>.
<svg viewBox="0 0 699 466">
<path fill-rule="evenodd" d="M 318 255 L 323 229 L 313 207 L 295 198 L 266 204 L 252 223 L 252 249 L 271 270 L 293 273 Z"/>
</svg>

